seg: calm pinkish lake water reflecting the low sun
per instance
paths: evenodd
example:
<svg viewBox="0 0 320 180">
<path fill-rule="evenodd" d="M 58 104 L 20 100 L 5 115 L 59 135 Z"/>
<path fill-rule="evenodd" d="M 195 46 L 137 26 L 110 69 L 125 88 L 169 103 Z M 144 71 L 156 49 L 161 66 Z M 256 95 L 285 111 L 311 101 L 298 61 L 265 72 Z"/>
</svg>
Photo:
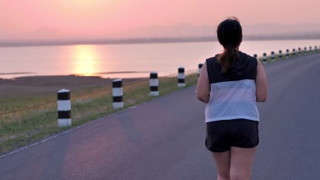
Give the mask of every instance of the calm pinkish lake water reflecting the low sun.
<svg viewBox="0 0 320 180">
<path fill-rule="evenodd" d="M 272 50 L 319 45 L 320 40 L 246 41 L 240 50 L 261 57 Z M 218 42 L 8 47 L 0 48 L 0 78 L 96 73 L 104 78 L 128 78 L 148 76 L 150 71 L 164 76 L 176 74 L 179 66 L 196 71 L 198 63 L 221 51 Z"/>
</svg>

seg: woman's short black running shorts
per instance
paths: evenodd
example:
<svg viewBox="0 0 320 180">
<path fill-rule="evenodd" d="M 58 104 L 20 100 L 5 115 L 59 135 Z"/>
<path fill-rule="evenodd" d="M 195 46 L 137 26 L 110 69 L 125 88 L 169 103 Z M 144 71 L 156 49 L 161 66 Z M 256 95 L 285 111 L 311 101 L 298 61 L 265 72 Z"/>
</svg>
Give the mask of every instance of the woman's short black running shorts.
<svg viewBox="0 0 320 180">
<path fill-rule="evenodd" d="M 252 148 L 259 143 L 258 121 L 232 119 L 206 123 L 206 148 L 212 152 L 230 147 Z"/>
</svg>

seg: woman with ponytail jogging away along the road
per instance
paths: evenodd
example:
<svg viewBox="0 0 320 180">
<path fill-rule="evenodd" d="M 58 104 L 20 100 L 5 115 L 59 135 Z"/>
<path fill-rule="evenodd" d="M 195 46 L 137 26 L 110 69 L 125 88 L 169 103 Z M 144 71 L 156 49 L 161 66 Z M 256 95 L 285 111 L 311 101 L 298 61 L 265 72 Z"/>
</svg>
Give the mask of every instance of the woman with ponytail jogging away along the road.
<svg viewBox="0 0 320 180">
<path fill-rule="evenodd" d="M 260 61 L 239 51 L 242 28 L 237 18 L 219 24 L 224 51 L 206 59 L 197 86 L 207 104 L 205 145 L 217 164 L 217 179 L 250 179 L 259 143 L 256 102 L 267 100 L 267 78 Z"/>
</svg>

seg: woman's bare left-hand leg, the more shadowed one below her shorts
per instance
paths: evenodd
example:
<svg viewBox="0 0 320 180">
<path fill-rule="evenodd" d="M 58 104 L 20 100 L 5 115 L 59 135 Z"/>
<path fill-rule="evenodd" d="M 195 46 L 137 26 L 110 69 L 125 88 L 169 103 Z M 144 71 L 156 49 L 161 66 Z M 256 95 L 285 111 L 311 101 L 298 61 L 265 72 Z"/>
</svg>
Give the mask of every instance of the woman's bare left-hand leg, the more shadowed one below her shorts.
<svg viewBox="0 0 320 180">
<path fill-rule="evenodd" d="M 230 180 L 230 151 L 212 155 L 217 164 L 217 180 Z"/>
</svg>

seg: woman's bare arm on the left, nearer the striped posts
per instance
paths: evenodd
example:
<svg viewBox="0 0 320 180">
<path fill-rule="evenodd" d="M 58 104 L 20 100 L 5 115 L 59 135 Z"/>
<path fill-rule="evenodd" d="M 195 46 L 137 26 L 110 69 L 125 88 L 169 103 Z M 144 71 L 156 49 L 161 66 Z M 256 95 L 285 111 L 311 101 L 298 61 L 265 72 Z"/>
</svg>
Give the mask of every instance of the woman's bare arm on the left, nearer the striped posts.
<svg viewBox="0 0 320 180">
<path fill-rule="evenodd" d="M 200 71 L 200 76 L 198 78 L 198 85 L 197 85 L 198 100 L 204 102 L 205 104 L 208 104 L 210 100 L 209 89 L 210 89 L 209 76 L 206 70 L 206 63 L 204 63 Z"/>
</svg>

